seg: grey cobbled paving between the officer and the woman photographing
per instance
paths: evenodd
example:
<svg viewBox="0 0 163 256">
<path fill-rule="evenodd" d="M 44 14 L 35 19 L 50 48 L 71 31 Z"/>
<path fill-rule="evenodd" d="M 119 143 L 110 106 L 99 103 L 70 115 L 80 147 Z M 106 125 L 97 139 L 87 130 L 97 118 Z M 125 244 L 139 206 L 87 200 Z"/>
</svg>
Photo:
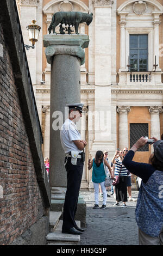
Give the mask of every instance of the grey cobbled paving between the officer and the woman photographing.
<svg viewBox="0 0 163 256">
<path fill-rule="evenodd" d="M 110 192 L 109 192 L 110 193 Z M 80 192 L 87 204 L 84 233 L 80 236 L 80 245 L 138 245 L 138 228 L 135 221 L 136 202 L 127 202 L 127 207 L 113 206 L 115 199 L 108 197 L 107 208 L 92 209 L 95 205 L 93 192 Z M 132 195 L 137 198 L 138 191 Z M 99 194 L 99 206 L 102 196 Z"/>
</svg>

